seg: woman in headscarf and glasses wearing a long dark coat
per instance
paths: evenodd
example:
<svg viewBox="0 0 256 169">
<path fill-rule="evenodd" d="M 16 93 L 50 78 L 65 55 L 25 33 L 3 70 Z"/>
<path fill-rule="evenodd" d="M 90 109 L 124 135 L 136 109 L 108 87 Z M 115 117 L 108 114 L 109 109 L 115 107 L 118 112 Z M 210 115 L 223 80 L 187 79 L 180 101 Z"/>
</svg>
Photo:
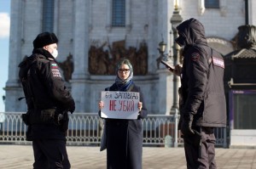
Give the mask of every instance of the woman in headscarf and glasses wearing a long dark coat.
<svg viewBox="0 0 256 169">
<path fill-rule="evenodd" d="M 107 168 L 108 169 L 142 169 L 143 158 L 143 124 L 142 119 L 148 115 L 143 102 L 140 87 L 132 81 L 131 62 L 123 59 L 116 66 L 116 79 L 109 91 L 140 93 L 137 104 L 139 113 L 137 120 L 106 119 L 107 134 Z M 99 102 L 100 110 L 104 106 Z"/>
</svg>

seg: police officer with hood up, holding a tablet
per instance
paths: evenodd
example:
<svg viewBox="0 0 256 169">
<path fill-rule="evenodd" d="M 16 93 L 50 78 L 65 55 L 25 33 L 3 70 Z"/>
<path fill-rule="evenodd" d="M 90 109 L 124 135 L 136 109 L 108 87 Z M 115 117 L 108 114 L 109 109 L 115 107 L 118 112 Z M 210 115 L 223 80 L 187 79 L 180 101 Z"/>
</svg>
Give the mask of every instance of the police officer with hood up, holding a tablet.
<svg viewBox="0 0 256 169">
<path fill-rule="evenodd" d="M 214 127 L 226 127 L 224 59 L 207 45 L 204 26 L 193 18 L 177 26 L 183 47 L 180 121 L 189 169 L 216 168 Z"/>
</svg>

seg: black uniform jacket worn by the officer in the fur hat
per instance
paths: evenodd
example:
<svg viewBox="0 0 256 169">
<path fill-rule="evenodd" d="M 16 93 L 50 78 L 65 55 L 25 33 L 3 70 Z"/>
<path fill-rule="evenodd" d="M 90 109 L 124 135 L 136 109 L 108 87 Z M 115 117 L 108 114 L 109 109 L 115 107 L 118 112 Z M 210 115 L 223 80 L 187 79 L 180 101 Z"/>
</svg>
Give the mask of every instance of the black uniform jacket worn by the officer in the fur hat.
<svg viewBox="0 0 256 169">
<path fill-rule="evenodd" d="M 75 106 L 71 93 L 62 81 L 55 59 L 43 48 L 36 48 L 19 67 L 32 140 L 65 139 L 65 132 L 53 121 L 41 121 L 42 110 L 74 110 Z"/>
</svg>

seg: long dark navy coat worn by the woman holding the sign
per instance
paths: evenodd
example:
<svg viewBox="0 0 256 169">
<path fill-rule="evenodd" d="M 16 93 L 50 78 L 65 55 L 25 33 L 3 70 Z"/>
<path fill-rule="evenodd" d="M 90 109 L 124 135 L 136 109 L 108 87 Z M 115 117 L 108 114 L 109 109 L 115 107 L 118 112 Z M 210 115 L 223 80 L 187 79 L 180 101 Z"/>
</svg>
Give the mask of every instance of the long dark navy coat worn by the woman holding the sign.
<svg viewBox="0 0 256 169">
<path fill-rule="evenodd" d="M 140 87 L 132 84 L 131 92 L 140 93 L 143 109 L 137 120 L 106 119 L 107 134 L 107 165 L 112 169 L 141 169 L 143 156 L 143 124 L 142 119 L 148 115 L 143 93 Z M 109 91 L 118 91 L 114 83 L 106 88 Z"/>
</svg>

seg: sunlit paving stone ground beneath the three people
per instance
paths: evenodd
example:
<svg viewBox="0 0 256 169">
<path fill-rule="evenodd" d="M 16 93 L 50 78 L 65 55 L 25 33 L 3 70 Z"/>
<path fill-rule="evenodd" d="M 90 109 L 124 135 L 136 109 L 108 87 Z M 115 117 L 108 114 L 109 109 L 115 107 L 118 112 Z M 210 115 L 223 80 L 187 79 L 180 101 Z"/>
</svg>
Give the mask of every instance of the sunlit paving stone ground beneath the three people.
<svg viewBox="0 0 256 169">
<path fill-rule="evenodd" d="M 67 146 L 72 169 L 106 168 L 106 150 Z M 256 169 L 256 149 L 216 149 L 218 169 Z M 0 169 L 31 169 L 32 145 L 0 144 Z M 143 169 L 186 168 L 183 148 L 143 147 Z"/>
</svg>

